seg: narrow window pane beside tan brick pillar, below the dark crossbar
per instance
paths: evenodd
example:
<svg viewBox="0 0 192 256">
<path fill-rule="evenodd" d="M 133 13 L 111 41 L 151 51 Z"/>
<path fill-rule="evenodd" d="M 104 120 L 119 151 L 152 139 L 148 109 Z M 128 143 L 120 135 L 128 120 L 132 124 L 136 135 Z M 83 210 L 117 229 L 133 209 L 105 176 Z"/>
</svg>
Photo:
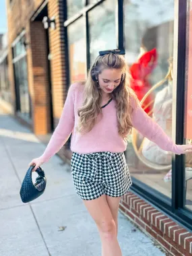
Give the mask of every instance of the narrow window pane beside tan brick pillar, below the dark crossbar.
<svg viewBox="0 0 192 256">
<path fill-rule="evenodd" d="M 67 27 L 69 42 L 70 84 L 86 79 L 86 38 L 84 20 L 80 18 Z"/>
</svg>

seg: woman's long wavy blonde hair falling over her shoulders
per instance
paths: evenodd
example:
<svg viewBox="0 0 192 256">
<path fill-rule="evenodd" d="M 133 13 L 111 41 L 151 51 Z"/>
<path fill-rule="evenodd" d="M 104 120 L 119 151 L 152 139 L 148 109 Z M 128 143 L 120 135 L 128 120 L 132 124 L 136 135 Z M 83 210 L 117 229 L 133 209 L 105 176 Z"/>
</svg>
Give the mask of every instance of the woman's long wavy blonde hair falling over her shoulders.
<svg viewBox="0 0 192 256">
<path fill-rule="evenodd" d="M 98 115 L 102 117 L 102 89 L 99 88 L 98 82 L 94 81 L 93 76 L 98 79 L 98 75 L 104 69 L 121 69 L 123 81 L 113 90 L 111 96 L 116 102 L 117 121 L 119 135 L 126 139 L 131 131 L 131 112 L 133 106 L 130 104 L 130 98 L 133 96 L 137 102 L 135 92 L 129 87 L 129 73 L 127 63 L 122 55 L 109 53 L 104 56 L 98 56 L 96 61 L 88 72 L 88 78 L 84 84 L 84 102 L 81 108 L 77 110 L 79 123 L 76 127 L 80 133 L 87 133 L 92 130 L 96 124 Z"/>
</svg>

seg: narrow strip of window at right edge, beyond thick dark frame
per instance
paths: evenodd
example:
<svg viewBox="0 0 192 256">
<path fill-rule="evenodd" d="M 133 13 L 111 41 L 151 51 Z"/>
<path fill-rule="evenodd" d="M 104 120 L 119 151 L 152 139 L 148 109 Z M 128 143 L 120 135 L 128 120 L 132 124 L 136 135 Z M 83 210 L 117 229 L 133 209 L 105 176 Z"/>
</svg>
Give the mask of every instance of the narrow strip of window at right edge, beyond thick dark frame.
<svg viewBox="0 0 192 256">
<path fill-rule="evenodd" d="M 187 31 L 187 80 L 185 97 L 185 143 L 192 143 L 192 0 L 189 1 L 189 26 Z M 192 210 L 192 154 L 185 156 L 185 206 Z"/>
</svg>

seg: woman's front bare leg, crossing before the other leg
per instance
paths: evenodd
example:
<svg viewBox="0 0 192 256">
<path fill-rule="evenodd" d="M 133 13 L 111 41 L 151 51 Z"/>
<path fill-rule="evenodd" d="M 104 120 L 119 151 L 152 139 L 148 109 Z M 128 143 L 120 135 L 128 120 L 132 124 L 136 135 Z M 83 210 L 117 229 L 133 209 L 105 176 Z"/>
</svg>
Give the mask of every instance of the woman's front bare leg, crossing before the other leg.
<svg viewBox="0 0 192 256">
<path fill-rule="evenodd" d="M 110 207 L 114 208 L 113 199 L 109 201 Z M 122 256 L 117 241 L 115 220 L 108 205 L 106 195 L 93 200 L 84 200 L 84 204 L 98 227 L 102 243 L 102 256 Z"/>
</svg>

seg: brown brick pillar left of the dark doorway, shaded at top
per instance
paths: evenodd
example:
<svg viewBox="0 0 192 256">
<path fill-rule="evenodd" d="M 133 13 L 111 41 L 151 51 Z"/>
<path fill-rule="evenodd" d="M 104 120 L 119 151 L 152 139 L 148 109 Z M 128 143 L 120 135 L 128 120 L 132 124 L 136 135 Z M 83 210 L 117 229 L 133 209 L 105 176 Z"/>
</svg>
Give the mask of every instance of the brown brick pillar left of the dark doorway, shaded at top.
<svg viewBox="0 0 192 256">
<path fill-rule="evenodd" d="M 36 134 L 46 134 L 51 131 L 47 56 L 46 32 L 42 22 L 30 22 L 28 82 L 32 98 L 33 131 Z"/>
</svg>

